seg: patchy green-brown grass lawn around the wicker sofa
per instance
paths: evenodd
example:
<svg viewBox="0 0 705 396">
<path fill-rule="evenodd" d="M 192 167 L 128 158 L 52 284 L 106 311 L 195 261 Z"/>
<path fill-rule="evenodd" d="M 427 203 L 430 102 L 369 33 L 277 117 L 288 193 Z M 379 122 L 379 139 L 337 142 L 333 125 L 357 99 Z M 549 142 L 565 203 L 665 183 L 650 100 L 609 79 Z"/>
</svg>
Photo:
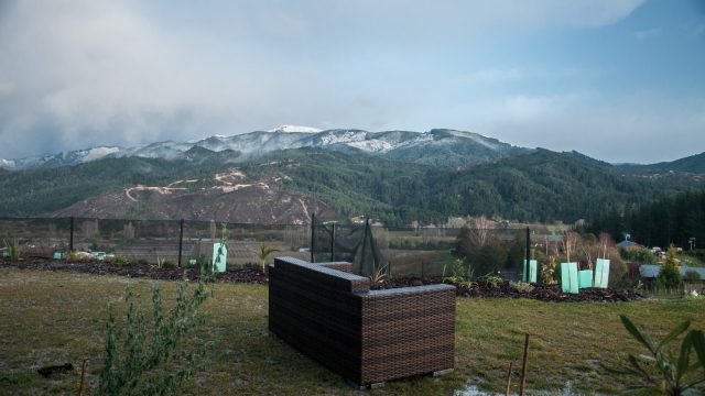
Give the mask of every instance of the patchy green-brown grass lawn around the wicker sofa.
<svg viewBox="0 0 705 396">
<path fill-rule="evenodd" d="M 102 360 L 106 304 L 119 301 L 130 285 L 150 307 L 153 283 L 0 268 L 0 394 L 76 394 L 84 358 L 90 360 L 87 380 L 94 385 Z M 159 285 L 164 300 L 173 300 L 176 284 Z M 338 375 L 269 334 L 267 298 L 265 286 L 214 285 L 214 297 L 206 304 L 207 328 L 195 337 L 213 340 L 215 346 L 206 371 L 193 378 L 185 393 L 358 394 Z M 534 334 L 529 356 L 531 389 L 557 391 L 571 382 L 574 391 L 615 393 L 623 386 L 621 378 L 607 376 L 598 362 L 614 364 L 629 352 L 642 352 L 623 330 L 619 314 L 659 338 L 688 318 L 694 320 L 693 328 L 705 328 L 705 299 L 551 304 L 459 298 L 456 371 L 436 378 L 392 382 L 370 394 L 452 394 L 465 384 L 499 392 L 510 361 L 521 362 L 524 332 Z M 51 378 L 36 374 L 41 366 L 64 363 L 77 369 Z"/>
</svg>

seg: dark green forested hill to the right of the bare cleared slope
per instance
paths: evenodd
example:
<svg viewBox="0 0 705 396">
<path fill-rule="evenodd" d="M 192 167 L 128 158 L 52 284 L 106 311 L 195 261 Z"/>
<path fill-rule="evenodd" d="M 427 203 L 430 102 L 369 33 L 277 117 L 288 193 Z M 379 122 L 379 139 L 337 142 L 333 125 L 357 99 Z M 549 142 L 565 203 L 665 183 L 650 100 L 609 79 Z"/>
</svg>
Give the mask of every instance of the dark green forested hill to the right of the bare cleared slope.
<svg viewBox="0 0 705 396">
<path fill-rule="evenodd" d="M 389 226 L 443 223 L 449 216 L 485 215 L 520 221 L 574 222 L 685 189 L 621 175 L 577 153 L 538 150 L 464 169 L 422 166 L 364 155 L 286 151 L 286 187 L 314 195 L 343 216 L 370 215 Z M 254 165 L 252 167 L 256 167 Z"/>
</svg>

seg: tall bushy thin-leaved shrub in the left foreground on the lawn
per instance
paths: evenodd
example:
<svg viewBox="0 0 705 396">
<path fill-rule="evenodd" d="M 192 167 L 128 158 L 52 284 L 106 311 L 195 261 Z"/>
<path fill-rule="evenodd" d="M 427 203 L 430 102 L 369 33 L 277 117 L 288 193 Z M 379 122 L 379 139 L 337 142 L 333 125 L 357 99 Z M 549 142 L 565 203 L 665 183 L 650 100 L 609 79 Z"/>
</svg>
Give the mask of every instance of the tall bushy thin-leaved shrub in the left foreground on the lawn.
<svg viewBox="0 0 705 396">
<path fill-rule="evenodd" d="M 199 278 L 189 295 L 187 282 L 178 286 L 176 304 L 166 314 L 159 287 L 152 288 L 153 315 L 148 320 L 128 288 L 124 322 L 118 323 L 108 306 L 106 356 L 98 378 L 97 395 L 173 394 L 198 370 L 203 348 L 186 353 L 181 341 L 204 321 L 199 307 L 209 292 Z"/>
</svg>

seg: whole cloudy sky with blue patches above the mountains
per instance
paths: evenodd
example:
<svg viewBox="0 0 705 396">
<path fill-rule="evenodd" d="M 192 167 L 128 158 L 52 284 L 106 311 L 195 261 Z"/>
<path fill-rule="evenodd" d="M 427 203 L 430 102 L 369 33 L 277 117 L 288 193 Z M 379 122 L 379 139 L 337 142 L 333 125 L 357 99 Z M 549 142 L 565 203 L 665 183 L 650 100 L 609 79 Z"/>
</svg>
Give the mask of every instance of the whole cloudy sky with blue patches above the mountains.
<svg viewBox="0 0 705 396">
<path fill-rule="evenodd" d="M 0 0 L 0 157 L 280 124 L 705 151 L 702 0 Z"/>
</svg>

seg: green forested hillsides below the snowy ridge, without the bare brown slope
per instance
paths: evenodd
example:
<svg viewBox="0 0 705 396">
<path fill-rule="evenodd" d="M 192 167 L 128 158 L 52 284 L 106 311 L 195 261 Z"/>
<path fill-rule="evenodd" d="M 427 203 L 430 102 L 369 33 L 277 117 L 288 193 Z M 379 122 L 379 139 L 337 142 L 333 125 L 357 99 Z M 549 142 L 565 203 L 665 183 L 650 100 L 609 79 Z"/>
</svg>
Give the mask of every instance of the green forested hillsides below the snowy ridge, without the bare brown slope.
<svg viewBox="0 0 705 396">
<path fill-rule="evenodd" d="M 243 179 L 303 194 L 341 218 L 368 215 L 384 223 L 442 223 L 451 216 L 486 215 L 521 221 L 573 222 L 692 187 L 691 179 L 658 183 L 622 175 L 578 153 L 536 150 L 494 164 L 447 168 L 317 148 L 279 151 L 252 163 L 234 152 L 194 148 L 176 161 L 110 158 L 73 167 L 0 174 L 0 216 L 45 216 L 88 197 L 134 185 L 166 186 L 238 168 Z M 100 200 L 96 200 L 100 201 Z"/>
</svg>

